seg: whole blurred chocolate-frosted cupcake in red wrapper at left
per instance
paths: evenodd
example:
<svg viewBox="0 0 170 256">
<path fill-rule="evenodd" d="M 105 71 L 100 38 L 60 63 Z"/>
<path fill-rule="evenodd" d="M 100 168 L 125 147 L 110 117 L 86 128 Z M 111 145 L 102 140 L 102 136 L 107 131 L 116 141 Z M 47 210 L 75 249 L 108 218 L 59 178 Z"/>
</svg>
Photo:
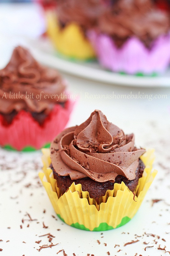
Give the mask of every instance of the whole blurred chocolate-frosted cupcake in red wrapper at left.
<svg viewBox="0 0 170 256">
<path fill-rule="evenodd" d="M 58 71 L 16 47 L 0 70 L 0 145 L 17 150 L 48 146 L 72 110 L 65 89 Z"/>
</svg>

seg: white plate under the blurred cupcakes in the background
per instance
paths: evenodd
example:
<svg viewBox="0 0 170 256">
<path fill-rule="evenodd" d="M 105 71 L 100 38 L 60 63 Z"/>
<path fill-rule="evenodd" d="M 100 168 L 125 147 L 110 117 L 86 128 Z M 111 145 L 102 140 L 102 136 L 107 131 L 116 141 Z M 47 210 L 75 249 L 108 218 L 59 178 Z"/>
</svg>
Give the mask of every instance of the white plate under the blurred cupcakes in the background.
<svg viewBox="0 0 170 256">
<path fill-rule="evenodd" d="M 170 87 L 170 68 L 164 75 L 156 77 L 122 75 L 101 68 L 97 61 L 76 62 L 63 59 L 57 55 L 47 39 L 39 39 L 29 44 L 34 56 L 43 64 L 75 76 L 125 86 Z"/>
</svg>

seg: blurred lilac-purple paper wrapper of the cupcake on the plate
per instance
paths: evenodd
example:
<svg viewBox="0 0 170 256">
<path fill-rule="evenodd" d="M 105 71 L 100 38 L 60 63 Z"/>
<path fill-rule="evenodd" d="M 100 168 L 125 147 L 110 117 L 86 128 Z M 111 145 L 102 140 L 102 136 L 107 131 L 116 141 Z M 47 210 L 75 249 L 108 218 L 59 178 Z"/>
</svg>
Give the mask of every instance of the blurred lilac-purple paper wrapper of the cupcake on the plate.
<svg viewBox="0 0 170 256">
<path fill-rule="evenodd" d="M 120 49 L 107 35 L 89 31 L 88 37 L 100 64 L 115 72 L 162 73 L 170 63 L 170 34 L 159 36 L 151 50 L 136 37 L 129 38 Z"/>
</svg>

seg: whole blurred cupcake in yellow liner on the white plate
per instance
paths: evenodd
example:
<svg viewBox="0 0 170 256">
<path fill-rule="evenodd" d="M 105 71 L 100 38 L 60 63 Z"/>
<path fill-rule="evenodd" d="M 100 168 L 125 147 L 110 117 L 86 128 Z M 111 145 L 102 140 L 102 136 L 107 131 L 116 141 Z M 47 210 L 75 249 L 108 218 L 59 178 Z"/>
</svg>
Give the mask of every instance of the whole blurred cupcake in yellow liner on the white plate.
<svg viewBox="0 0 170 256">
<path fill-rule="evenodd" d="M 46 10 L 47 33 L 59 53 L 79 60 L 95 57 L 86 33 L 96 25 L 102 6 L 101 0 L 57 0 L 56 8 Z"/>
</svg>

